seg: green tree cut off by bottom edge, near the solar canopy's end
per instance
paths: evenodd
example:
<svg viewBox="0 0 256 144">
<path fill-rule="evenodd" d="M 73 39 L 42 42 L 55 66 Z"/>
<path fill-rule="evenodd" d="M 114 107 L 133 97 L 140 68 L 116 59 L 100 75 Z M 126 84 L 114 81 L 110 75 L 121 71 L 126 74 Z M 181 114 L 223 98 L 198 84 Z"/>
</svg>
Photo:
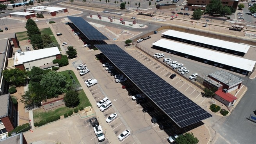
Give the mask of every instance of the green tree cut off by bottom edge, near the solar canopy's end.
<svg viewBox="0 0 256 144">
<path fill-rule="evenodd" d="M 193 133 L 184 133 L 175 139 L 175 144 L 197 144 L 199 140 L 194 137 Z"/>
</svg>

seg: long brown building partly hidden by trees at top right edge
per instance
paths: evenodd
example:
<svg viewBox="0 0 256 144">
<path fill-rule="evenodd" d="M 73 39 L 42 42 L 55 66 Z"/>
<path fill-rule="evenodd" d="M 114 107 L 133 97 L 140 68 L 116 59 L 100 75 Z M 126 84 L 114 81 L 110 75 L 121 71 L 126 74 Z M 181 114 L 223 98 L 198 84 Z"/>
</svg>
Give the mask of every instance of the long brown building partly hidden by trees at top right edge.
<svg viewBox="0 0 256 144">
<path fill-rule="evenodd" d="M 185 11 L 194 11 L 195 9 L 204 10 L 206 5 L 210 4 L 211 0 L 187 0 L 187 5 L 184 6 Z M 237 9 L 238 0 L 221 0 L 222 5 Z"/>
</svg>

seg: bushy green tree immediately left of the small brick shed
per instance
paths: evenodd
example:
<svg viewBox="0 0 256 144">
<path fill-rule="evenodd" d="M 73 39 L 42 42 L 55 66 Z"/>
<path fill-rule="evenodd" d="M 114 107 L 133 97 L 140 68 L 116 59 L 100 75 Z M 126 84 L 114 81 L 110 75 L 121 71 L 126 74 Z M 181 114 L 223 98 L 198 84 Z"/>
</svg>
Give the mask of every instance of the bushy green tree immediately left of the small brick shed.
<svg viewBox="0 0 256 144">
<path fill-rule="evenodd" d="M 41 98 L 29 90 L 21 96 L 20 102 L 24 103 L 24 108 L 28 110 L 41 107 Z"/>
</svg>

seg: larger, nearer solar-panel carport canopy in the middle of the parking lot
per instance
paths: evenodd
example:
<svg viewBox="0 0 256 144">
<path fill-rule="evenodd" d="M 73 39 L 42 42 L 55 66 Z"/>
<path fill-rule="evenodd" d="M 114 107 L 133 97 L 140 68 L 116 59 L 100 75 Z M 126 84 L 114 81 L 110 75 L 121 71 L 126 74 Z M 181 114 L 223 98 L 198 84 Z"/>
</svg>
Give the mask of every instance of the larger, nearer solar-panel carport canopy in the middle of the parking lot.
<svg viewBox="0 0 256 144">
<path fill-rule="evenodd" d="M 178 126 L 185 127 L 212 117 L 116 44 L 95 46 Z"/>
</svg>

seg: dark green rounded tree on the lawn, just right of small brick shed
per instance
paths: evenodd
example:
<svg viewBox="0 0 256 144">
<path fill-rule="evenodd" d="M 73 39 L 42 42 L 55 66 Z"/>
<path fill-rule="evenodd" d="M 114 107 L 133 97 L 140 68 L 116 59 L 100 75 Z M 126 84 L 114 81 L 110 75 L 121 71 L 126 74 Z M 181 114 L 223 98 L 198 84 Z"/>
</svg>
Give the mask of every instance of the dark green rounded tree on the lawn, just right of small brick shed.
<svg viewBox="0 0 256 144">
<path fill-rule="evenodd" d="M 69 108 L 71 107 L 74 108 L 78 106 L 80 101 L 78 95 L 79 95 L 78 91 L 74 91 L 74 90 L 67 91 L 66 94 L 64 95 L 65 106 Z"/>
</svg>

